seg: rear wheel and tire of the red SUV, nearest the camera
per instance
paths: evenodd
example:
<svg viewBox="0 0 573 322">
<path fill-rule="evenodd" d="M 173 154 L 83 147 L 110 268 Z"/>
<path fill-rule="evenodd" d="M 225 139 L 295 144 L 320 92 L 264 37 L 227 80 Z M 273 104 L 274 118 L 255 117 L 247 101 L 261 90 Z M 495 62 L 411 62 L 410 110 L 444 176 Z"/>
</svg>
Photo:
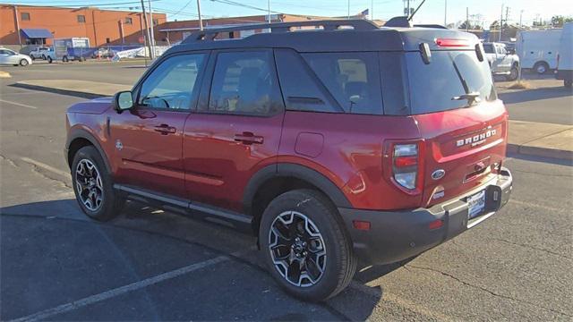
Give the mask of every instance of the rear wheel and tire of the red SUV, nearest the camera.
<svg viewBox="0 0 573 322">
<path fill-rule="evenodd" d="M 286 225 L 289 222 L 298 224 Z M 283 232 L 284 238 L 275 232 Z M 318 191 L 288 191 L 273 199 L 261 218 L 259 242 L 269 274 L 286 292 L 304 301 L 335 296 L 355 275 L 351 239 L 337 208 Z"/>
</svg>

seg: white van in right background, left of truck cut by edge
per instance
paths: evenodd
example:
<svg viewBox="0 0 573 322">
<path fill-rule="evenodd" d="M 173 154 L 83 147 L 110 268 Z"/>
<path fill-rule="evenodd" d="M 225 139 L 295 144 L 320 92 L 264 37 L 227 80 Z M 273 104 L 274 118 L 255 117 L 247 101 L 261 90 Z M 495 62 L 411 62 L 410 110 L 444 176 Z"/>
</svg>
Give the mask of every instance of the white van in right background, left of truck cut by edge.
<svg viewBox="0 0 573 322">
<path fill-rule="evenodd" d="M 560 38 L 561 29 L 518 31 L 516 54 L 521 68 L 532 69 L 539 74 L 555 69 Z"/>
</svg>

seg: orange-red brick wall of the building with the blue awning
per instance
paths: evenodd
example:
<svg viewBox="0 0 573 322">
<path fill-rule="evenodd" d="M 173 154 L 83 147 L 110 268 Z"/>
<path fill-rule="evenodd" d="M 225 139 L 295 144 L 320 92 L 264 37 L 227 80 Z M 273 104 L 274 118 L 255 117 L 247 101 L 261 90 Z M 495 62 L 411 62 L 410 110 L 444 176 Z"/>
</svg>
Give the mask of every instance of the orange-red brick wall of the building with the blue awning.
<svg viewBox="0 0 573 322">
<path fill-rule="evenodd" d="M 43 28 L 54 35 L 54 38 L 87 37 L 90 46 L 106 45 L 107 38 L 112 45 L 122 44 L 119 21 L 132 18 L 132 24 L 123 23 L 125 44 L 139 43 L 141 26 L 143 26 L 141 13 L 99 10 L 96 8 L 57 8 L 39 6 L 17 6 L 20 29 Z M 22 21 L 21 13 L 30 13 L 30 21 Z M 85 22 L 78 21 L 78 15 L 85 17 Z M 167 21 L 164 13 L 154 13 L 153 19 L 159 24 Z M 158 28 L 158 25 L 155 26 Z M 18 31 L 14 21 L 13 5 L 0 4 L 0 44 L 18 44 Z M 157 34 L 157 32 L 156 32 Z M 51 41 L 48 39 L 48 44 Z M 22 38 L 22 44 L 25 39 Z"/>
</svg>

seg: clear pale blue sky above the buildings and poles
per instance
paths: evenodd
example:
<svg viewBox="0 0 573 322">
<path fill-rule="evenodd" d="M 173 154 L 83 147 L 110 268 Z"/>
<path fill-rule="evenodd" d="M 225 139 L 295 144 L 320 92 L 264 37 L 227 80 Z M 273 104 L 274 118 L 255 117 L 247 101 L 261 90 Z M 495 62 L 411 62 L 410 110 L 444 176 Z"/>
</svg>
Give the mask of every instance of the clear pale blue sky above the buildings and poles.
<svg viewBox="0 0 573 322">
<path fill-rule="evenodd" d="M 158 11 L 167 13 L 169 20 L 189 20 L 197 18 L 196 0 L 152 0 L 152 5 Z M 2 2 L 2 0 L 0 0 Z M 147 4 L 147 0 L 145 0 Z M 225 2 L 243 4 L 233 5 Z M 411 0 L 412 6 L 417 6 L 422 0 Z M 416 14 L 416 23 L 444 22 L 444 4 L 446 0 L 426 0 L 422 9 Z M 523 10 L 523 23 L 531 24 L 536 18 L 551 19 L 552 15 L 560 14 L 573 16 L 572 0 L 447 0 L 448 23 L 466 19 L 466 6 L 471 20 L 481 20 L 485 26 L 498 20 L 501 4 L 509 6 L 509 21 L 519 21 Z M 109 9 L 141 10 L 137 0 L 16 0 L 8 1 L 13 4 L 47 4 L 47 5 L 94 5 Z M 350 0 L 350 13 L 360 13 L 371 9 L 373 18 L 387 20 L 403 13 L 403 0 Z M 270 0 L 271 11 L 275 13 L 296 13 L 324 16 L 346 16 L 347 0 Z M 250 6 L 250 7 L 249 7 Z M 267 8 L 267 0 L 201 0 L 201 13 L 206 17 L 230 17 L 265 14 L 264 11 L 252 7 Z M 505 9 L 504 9 L 505 16 Z"/>
</svg>

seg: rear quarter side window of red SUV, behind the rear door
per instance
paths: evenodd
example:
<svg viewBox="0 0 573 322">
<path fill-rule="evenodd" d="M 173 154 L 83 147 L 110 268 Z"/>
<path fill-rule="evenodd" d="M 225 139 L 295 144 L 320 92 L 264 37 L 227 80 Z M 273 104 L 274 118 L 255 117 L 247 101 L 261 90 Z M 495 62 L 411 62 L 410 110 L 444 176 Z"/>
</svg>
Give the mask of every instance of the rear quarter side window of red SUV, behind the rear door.
<svg viewBox="0 0 573 322">
<path fill-rule="evenodd" d="M 346 113 L 382 114 L 378 53 L 312 53 L 303 57 Z"/>
</svg>

